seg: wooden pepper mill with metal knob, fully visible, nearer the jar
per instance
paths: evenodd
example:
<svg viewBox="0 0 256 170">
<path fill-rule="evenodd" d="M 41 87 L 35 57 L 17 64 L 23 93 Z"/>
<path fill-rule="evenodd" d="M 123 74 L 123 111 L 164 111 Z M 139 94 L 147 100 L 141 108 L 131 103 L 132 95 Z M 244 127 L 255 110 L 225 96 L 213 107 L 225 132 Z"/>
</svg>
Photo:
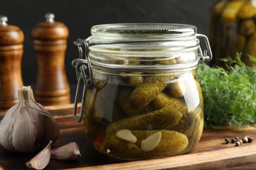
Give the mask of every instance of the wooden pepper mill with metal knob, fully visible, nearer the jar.
<svg viewBox="0 0 256 170">
<path fill-rule="evenodd" d="M 37 55 L 35 100 L 42 105 L 70 103 L 70 86 L 65 71 L 68 28 L 54 21 L 54 14 L 45 14 L 46 22 L 32 29 Z"/>
</svg>

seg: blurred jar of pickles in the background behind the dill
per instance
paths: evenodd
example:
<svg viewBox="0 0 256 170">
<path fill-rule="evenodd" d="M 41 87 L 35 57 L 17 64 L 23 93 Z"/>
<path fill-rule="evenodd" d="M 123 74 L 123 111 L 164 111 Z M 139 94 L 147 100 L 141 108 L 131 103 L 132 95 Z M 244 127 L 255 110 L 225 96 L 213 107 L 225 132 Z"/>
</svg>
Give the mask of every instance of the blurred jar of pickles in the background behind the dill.
<svg viewBox="0 0 256 170">
<path fill-rule="evenodd" d="M 248 54 L 256 56 L 256 1 L 219 0 L 211 7 L 211 65 L 224 67 L 220 59 L 242 54 L 242 61 L 252 66 Z"/>
</svg>

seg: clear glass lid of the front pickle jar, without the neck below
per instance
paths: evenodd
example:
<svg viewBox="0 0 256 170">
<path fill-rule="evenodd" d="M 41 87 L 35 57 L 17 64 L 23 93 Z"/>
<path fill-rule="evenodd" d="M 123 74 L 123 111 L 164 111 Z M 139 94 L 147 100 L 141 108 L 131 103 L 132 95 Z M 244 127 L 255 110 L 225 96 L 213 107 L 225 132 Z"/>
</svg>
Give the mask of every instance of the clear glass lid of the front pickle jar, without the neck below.
<svg viewBox="0 0 256 170">
<path fill-rule="evenodd" d="M 89 49 L 105 53 L 161 54 L 198 48 L 196 26 L 168 23 L 102 24 L 91 28 Z M 139 48 L 139 50 L 138 50 Z M 123 50 L 116 50 L 123 49 Z"/>
</svg>

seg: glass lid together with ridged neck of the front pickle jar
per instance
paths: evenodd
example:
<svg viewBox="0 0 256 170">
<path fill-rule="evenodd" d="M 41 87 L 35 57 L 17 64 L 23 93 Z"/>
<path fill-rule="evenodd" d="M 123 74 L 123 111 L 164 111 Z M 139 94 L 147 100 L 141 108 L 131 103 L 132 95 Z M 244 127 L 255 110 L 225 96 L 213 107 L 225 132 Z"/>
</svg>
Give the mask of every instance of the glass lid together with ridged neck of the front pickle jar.
<svg viewBox="0 0 256 170">
<path fill-rule="evenodd" d="M 92 65 L 102 68 L 140 69 L 145 67 L 161 70 L 163 67 L 164 69 L 188 67 L 186 63 L 190 62 L 193 65 L 198 64 L 196 54 L 200 42 L 196 37 L 194 25 L 102 24 L 93 26 L 91 33 L 89 59 Z M 161 58 L 164 61 L 155 61 L 155 58 Z M 177 59 L 181 64 L 176 63 Z M 142 64 L 135 65 L 135 63 Z"/>
</svg>

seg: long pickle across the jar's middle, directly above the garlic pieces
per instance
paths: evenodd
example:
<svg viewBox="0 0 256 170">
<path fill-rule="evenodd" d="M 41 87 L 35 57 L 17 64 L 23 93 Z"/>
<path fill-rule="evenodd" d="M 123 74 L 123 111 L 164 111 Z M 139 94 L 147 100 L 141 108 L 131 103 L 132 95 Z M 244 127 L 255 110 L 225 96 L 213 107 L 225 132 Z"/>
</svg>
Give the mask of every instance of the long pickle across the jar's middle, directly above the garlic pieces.
<svg viewBox="0 0 256 170">
<path fill-rule="evenodd" d="M 113 122 L 106 128 L 107 134 L 116 133 L 120 129 L 129 130 L 152 130 L 165 129 L 167 126 L 174 126 L 181 120 L 182 112 L 173 107 L 165 107 L 147 114 L 124 118 Z"/>
</svg>

